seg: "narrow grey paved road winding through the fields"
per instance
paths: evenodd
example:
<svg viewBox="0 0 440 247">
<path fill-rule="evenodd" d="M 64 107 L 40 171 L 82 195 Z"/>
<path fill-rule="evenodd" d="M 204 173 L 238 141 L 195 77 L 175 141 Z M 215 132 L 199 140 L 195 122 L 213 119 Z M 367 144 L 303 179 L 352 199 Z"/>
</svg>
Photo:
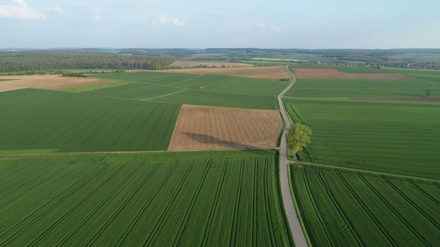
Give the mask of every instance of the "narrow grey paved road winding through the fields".
<svg viewBox="0 0 440 247">
<path fill-rule="evenodd" d="M 289 68 L 286 66 L 287 71 Z M 292 71 L 289 71 L 292 74 L 292 81 L 287 88 L 278 95 L 278 104 L 280 105 L 281 115 L 283 115 L 283 120 L 285 123 L 285 129 L 290 128 L 289 117 L 287 117 L 286 110 L 283 104 L 283 95 L 290 87 L 296 82 L 296 78 Z M 303 233 L 303 228 L 301 228 L 300 220 L 298 220 L 298 214 L 296 214 L 294 200 L 292 199 L 292 193 L 290 193 L 290 185 L 289 185 L 289 174 L 287 172 L 287 143 L 285 134 L 281 138 L 280 145 L 280 177 L 281 177 L 281 192 L 283 193 L 283 201 L 284 207 L 287 214 L 287 219 L 289 220 L 290 231 L 292 231 L 292 235 L 294 236 L 295 245 L 297 247 L 307 246 L 307 241 L 305 240 L 305 235 Z"/>
</svg>

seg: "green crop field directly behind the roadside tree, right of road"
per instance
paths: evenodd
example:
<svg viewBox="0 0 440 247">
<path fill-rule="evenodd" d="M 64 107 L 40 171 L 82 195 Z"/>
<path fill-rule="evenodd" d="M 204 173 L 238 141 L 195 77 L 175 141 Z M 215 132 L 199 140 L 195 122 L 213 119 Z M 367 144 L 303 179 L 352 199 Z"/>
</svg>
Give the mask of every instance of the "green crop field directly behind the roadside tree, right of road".
<svg viewBox="0 0 440 247">
<path fill-rule="evenodd" d="M 285 104 L 295 121 L 314 132 L 304 161 L 440 178 L 438 104 L 338 99 L 285 99 Z"/>
</svg>

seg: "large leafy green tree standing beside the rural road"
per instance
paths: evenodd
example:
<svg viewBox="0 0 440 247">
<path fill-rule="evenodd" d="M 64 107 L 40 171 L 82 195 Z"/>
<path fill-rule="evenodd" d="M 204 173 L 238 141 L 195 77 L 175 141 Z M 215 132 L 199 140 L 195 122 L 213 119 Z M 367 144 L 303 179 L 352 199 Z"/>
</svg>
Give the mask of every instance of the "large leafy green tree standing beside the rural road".
<svg viewBox="0 0 440 247">
<path fill-rule="evenodd" d="M 310 143 L 311 129 L 303 124 L 292 124 L 287 130 L 287 147 L 292 150 L 292 156 Z"/>
</svg>

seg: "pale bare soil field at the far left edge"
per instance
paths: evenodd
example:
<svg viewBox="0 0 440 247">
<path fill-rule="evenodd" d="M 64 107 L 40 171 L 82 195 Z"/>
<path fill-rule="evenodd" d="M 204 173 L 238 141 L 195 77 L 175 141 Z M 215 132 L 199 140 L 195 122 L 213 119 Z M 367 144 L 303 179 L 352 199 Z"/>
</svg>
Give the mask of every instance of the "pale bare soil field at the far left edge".
<svg viewBox="0 0 440 247">
<path fill-rule="evenodd" d="M 67 89 L 75 86 L 85 86 L 108 82 L 107 80 L 95 78 L 73 78 L 61 75 L 11 75 L 0 76 L 0 79 L 10 81 L 0 82 L 0 92 L 17 89 Z"/>
</svg>

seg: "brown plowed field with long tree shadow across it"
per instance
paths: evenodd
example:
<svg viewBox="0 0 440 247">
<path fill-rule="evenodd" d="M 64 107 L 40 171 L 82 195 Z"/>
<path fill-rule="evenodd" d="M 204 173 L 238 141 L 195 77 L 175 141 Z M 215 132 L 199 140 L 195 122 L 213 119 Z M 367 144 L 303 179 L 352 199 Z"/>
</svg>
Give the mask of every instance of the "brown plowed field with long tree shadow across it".
<svg viewBox="0 0 440 247">
<path fill-rule="evenodd" d="M 168 150 L 274 148 L 282 126 L 277 110 L 183 105 Z"/>
</svg>

